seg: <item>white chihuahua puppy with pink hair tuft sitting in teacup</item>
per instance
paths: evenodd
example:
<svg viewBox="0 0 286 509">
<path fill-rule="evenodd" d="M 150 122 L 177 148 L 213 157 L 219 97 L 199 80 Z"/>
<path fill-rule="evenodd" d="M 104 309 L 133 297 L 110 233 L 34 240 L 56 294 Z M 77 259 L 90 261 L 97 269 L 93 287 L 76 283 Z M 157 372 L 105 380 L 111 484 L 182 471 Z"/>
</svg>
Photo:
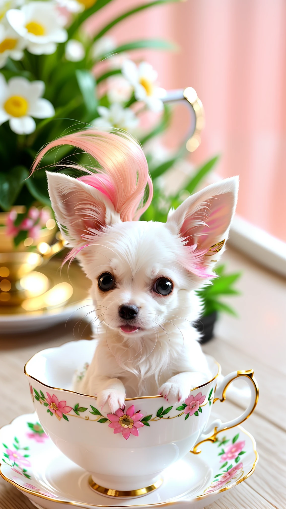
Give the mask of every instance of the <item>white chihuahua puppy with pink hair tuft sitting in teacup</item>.
<svg viewBox="0 0 286 509">
<path fill-rule="evenodd" d="M 97 395 L 105 413 L 124 407 L 126 397 L 185 400 L 212 377 L 192 326 L 202 313 L 195 290 L 215 275 L 238 178 L 189 196 L 166 223 L 137 221 L 132 219 L 151 202 L 152 183 L 134 140 L 82 131 L 47 146 L 35 167 L 44 152 L 61 144 L 89 152 L 100 165 L 99 173 L 79 179 L 47 173 L 59 228 L 73 247 L 70 258 L 77 257 L 92 281 L 97 344 L 74 389 Z"/>
</svg>

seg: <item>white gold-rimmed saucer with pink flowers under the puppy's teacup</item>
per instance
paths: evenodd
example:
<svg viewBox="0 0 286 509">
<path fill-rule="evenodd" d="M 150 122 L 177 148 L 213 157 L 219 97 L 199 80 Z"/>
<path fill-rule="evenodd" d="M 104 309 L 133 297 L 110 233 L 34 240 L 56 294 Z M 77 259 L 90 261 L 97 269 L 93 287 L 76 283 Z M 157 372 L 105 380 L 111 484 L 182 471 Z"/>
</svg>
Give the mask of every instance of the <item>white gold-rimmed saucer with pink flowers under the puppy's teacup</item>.
<svg viewBox="0 0 286 509">
<path fill-rule="evenodd" d="M 258 454 L 253 437 L 241 426 L 217 433 L 215 441 L 199 445 L 163 473 L 162 485 L 136 499 L 107 499 L 92 491 L 89 473 L 66 458 L 51 442 L 37 414 L 21 415 L 0 430 L 1 476 L 38 508 L 150 506 L 200 509 L 246 479 Z M 59 504 L 62 504 L 61 506 Z"/>
</svg>

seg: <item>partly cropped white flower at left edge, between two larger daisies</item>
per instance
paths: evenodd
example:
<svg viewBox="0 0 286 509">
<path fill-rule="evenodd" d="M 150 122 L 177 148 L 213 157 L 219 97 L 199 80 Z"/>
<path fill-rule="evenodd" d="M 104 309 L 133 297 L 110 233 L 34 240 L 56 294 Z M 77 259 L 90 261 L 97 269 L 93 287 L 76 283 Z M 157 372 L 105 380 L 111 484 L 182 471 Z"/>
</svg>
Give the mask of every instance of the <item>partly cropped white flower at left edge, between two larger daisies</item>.
<svg viewBox="0 0 286 509">
<path fill-rule="evenodd" d="M 9 56 L 13 60 L 20 60 L 24 47 L 24 39 L 8 23 L 0 23 L 0 68 L 5 66 Z"/>
</svg>

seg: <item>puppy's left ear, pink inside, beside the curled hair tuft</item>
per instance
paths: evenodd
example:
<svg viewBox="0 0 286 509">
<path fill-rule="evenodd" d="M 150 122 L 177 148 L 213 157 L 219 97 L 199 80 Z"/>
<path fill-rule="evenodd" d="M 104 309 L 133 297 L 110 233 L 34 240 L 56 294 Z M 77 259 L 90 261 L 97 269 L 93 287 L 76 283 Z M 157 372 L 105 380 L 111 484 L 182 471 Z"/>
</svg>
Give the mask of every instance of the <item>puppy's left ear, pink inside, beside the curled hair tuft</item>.
<svg viewBox="0 0 286 509">
<path fill-rule="evenodd" d="M 63 237 L 79 247 L 117 215 L 103 193 L 78 179 L 46 172 L 51 206 Z"/>
</svg>

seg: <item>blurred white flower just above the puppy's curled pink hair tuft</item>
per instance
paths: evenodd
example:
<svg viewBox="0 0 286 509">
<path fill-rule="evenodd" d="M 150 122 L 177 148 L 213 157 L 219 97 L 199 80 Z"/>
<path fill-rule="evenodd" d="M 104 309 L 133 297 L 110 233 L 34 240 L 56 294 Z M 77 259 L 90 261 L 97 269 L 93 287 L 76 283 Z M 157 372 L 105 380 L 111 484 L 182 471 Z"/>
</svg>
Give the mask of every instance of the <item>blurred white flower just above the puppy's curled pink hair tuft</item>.
<svg viewBox="0 0 286 509">
<path fill-rule="evenodd" d="M 92 125 L 103 130 L 109 131 L 117 127 L 131 132 L 139 122 L 132 109 L 123 108 L 118 103 L 111 104 L 110 108 L 98 106 L 97 110 L 100 117 L 93 120 Z"/>
</svg>

